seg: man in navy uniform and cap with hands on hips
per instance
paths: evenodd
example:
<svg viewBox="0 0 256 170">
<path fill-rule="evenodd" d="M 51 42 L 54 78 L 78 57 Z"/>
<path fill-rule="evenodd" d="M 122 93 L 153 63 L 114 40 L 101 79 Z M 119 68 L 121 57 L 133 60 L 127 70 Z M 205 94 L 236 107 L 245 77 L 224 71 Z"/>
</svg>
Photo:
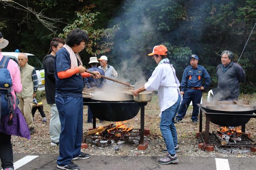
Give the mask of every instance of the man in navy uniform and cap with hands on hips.
<svg viewBox="0 0 256 170">
<path fill-rule="evenodd" d="M 192 101 L 193 103 L 193 112 L 192 112 L 192 122 L 197 123 L 197 117 L 199 113 L 199 107 L 197 106 L 200 103 L 202 98 L 202 90 L 208 88 L 211 82 L 209 73 L 203 66 L 198 65 L 198 57 L 193 54 L 189 57 L 190 66 L 183 72 L 182 82 L 181 82 L 181 91 L 180 94 L 183 95 L 183 101 L 178 110 L 178 115 L 176 116 L 175 123 L 180 123 L 187 112 L 187 108 Z M 204 84 L 202 82 L 204 79 Z"/>
</svg>

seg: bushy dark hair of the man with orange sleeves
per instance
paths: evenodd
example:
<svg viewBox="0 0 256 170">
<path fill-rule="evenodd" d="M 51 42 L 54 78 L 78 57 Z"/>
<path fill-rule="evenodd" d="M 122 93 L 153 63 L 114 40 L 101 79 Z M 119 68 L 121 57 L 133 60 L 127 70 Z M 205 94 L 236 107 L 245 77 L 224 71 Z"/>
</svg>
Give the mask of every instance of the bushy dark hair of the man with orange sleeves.
<svg viewBox="0 0 256 170">
<path fill-rule="evenodd" d="M 74 44 L 79 45 L 81 42 L 87 42 L 88 40 L 87 33 L 77 28 L 70 31 L 67 35 L 66 44 L 70 47 L 74 47 Z"/>
</svg>

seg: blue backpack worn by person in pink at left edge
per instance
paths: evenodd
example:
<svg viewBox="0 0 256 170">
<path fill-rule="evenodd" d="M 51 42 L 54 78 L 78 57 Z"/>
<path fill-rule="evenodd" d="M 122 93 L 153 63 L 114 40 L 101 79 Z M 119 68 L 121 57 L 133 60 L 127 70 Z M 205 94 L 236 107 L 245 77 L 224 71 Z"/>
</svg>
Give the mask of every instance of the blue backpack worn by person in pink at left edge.
<svg viewBox="0 0 256 170">
<path fill-rule="evenodd" d="M 10 58 L 3 57 L 0 61 L 0 124 L 1 118 L 9 114 L 9 125 L 12 125 L 12 118 L 15 117 L 13 108 L 14 97 L 11 94 L 13 82 L 7 69 Z M 17 104 L 17 102 L 15 102 Z"/>
</svg>

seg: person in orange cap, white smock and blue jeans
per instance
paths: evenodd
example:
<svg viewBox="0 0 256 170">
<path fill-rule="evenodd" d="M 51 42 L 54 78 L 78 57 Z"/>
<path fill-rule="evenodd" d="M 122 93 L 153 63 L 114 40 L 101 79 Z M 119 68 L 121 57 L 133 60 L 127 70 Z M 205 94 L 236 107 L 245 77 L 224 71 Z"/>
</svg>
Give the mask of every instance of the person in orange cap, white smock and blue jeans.
<svg viewBox="0 0 256 170">
<path fill-rule="evenodd" d="M 154 46 L 153 52 L 148 54 L 153 56 L 156 61 L 156 66 L 148 82 L 141 88 L 134 90 L 133 95 L 137 96 L 140 92 L 148 90 L 158 90 L 158 99 L 161 109 L 160 129 L 165 141 L 168 154 L 159 159 L 160 164 L 177 163 L 178 157 L 178 139 L 176 127 L 174 125 L 174 118 L 180 106 L 180 82 L 175 75 L 175 69 L 170 64 L 167 58 L 167 48 L 163 45 Z"/>
</svg>

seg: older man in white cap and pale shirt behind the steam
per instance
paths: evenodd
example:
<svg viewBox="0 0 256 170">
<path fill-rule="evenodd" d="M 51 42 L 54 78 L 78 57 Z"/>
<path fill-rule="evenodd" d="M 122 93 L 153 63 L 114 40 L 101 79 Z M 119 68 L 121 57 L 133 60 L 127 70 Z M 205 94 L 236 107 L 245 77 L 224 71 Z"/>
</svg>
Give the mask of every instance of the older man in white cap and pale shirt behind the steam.
<svg viewBox="0 0 256 170">
<path fill-rule="evenodd" d="M 105 72 L 106 77 L 110 77 L 111 79 L 116 79 L 118 74 L 115 69 L 108 64 L 108 57 L 105 55 L 102 55 L 98 61 L 100 61 L 100 66 L 98 68 L 102 69 Z M 107 84 L 112 84 L 113 81 L 106 80 Z"/>
</svg>

